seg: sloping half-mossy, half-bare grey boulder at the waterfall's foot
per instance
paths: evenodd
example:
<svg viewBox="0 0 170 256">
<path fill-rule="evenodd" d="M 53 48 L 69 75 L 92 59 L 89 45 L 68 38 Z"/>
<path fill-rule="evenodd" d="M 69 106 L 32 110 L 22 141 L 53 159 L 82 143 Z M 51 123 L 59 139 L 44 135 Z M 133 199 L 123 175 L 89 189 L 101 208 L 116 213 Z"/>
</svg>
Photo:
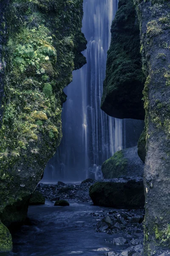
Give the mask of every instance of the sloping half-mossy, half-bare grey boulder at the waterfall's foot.
<svg viewBox="0 0 170 256">
<path fill-rule="evenodd" d="M 116 152 L 102 164 L 105 179 L 126 177 L 142 177 L 144 164 L 137 153 L 137 146 Z"/>
</svg>

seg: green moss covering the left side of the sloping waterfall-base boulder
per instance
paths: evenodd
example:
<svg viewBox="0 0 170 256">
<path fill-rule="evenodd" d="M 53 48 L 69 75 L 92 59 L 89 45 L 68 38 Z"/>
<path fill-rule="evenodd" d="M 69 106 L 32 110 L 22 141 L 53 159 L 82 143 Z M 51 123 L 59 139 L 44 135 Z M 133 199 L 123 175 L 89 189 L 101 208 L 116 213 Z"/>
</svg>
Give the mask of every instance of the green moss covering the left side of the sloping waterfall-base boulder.
<svg viewBox="0 0 170 256">
<path fill-rule="evenodd" d="M 103 176 L 107 179 L 118 178 L 126 175 L 127 159 L 123 151 L 117 151 L 113 157 L 109 158 L 102 164 Z"/>
</svg>

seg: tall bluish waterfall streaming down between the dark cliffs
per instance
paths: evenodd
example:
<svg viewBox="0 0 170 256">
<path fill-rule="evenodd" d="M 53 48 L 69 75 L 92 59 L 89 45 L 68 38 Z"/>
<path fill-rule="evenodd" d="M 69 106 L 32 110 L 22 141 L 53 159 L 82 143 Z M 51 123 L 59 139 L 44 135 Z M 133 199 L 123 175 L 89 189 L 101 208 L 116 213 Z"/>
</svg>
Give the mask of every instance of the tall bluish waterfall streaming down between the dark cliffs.
<svg viewBox="0 0 170 256">
<path fill-rule="evenodd" d="M 82 32 L 88 41 L 87 64 L 73 72 L 65 88 L 62 142 L 49 161 L 45 181 L 81 181 L 102 178 L 101 165 L 123 147 L 122 120 L 100 109 L 111 22 L 118 0 L 84 0 Z"/>
</svg>

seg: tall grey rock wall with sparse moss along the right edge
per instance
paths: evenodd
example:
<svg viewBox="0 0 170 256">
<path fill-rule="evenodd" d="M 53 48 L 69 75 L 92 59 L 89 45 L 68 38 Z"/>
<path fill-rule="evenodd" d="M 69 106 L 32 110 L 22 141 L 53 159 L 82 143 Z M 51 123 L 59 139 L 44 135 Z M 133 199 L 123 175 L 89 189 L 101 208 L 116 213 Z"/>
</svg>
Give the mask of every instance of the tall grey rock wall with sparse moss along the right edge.
<svg viewBox="0 0 170 256">
<path fill-rule="evenodd" d="M 135 0 L 135 4 L 147 76 L 143 255 L 151 256 L 161 247 L 170 247 L 170 5 L 163 0 Z"/>
</svg>

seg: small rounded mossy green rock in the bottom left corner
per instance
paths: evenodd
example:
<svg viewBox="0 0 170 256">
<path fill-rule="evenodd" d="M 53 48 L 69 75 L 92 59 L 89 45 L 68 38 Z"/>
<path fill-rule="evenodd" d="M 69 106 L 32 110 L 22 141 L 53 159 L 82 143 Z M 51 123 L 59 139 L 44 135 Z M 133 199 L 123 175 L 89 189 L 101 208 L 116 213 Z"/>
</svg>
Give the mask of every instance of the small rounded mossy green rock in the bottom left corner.
<svg viewBox="0 0 170 256">
<path fill-rule="evenodd" d="M 6 226 L 0 221 L 0 253 L 12 250 L 12 237 Z"/>
</svg>

